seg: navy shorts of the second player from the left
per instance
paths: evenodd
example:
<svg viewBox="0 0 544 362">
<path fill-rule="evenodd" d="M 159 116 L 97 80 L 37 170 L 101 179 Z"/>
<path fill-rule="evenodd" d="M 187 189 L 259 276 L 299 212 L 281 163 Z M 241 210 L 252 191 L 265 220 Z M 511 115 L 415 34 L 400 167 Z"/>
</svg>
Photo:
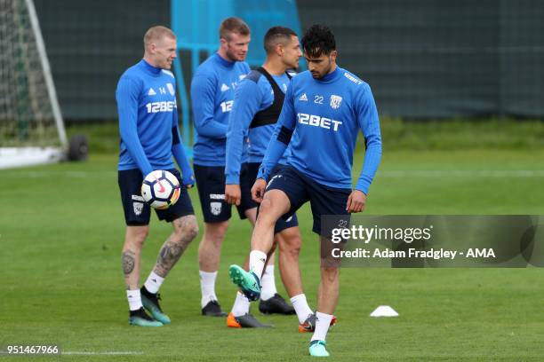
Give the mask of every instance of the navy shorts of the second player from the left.
<svg viewBox="0 0 544 362">
<path fill-rule="evenodd" d="M 231 205 L 225 201 L 225 167 L 224 166 L 199 166 L 195 169 L 196 187 L 202 206 L 202 214 L 206 223 L 220 223 L 227 221 L 231 216 Z M 242 201 L 236 206 L 241 219 L 247 218 L 245 211 L 256 208 L 252 201 L 252 185 L 247 179 L 247 163 L 242 164 L 240 172 L 240 188 L 242 189 Z"/>
</svg>

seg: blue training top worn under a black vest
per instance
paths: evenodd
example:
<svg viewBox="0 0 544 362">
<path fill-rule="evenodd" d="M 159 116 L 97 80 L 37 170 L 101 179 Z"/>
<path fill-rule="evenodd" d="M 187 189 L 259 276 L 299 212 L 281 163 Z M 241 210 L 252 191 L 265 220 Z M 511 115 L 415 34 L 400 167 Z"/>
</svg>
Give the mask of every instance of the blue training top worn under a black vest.
<svg viewBox="0 0 544 362">
<path fill-rule="evenodd" d="M 287 75 L 272 75 L 280 90 L 287 91 L 290 79 Z M 249 162 L 260 163 L 264 157 L 275 124 L 250 128 L 255 114 L 268 108 L 274 102 L 274 91 L 266 76 L 253 70 L 236 87 L 234 105 L 228 120 L 227 165 L 225 176 L 227 184 L 240 183 L 240 167 L 244 155 L 244 138 L 249 135 Z M 287 150 L 280 163 L 287 162 Z"/>
</svg>

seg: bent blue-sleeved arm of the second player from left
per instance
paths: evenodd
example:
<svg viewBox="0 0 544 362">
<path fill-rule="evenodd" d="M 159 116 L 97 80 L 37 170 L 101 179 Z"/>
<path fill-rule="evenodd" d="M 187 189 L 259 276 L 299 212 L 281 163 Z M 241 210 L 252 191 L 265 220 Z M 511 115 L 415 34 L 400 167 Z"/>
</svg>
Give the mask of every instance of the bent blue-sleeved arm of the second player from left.
<svg viewBox="0 0 544 362">
<path fill-rule="evenodd" d="M 191 83 L 191 104 L 198 134 L 208 138 L 226 138 L 227 125 L 213 119 L 215 84 L 209 76 L 196 74 Z"/>
</svg>

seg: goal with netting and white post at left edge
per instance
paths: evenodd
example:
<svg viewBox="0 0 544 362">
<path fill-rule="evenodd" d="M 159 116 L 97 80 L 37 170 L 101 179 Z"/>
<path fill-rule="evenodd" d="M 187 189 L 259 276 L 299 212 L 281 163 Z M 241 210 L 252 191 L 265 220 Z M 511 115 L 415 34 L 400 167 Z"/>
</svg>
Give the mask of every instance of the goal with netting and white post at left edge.
<svg viewBox="0 0 544 362">
<path fill-rule="evenodd" d="M 60 161 L 67 138 L 32 0 L 0 0 L 0 169 Z"/>
</svg>

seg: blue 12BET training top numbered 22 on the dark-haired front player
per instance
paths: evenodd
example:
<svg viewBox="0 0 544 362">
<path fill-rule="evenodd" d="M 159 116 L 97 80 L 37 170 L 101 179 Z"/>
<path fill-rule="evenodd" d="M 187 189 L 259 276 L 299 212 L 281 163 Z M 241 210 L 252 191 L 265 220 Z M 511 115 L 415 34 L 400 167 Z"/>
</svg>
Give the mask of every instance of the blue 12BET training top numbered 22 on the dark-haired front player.
<svg viewBox="0 0 544 362">
<path fill-rule="evenodd" d="M 340 67 L 322 79 L 300 73 L 287 90 L 258 177 L 268 180 L 290 144 L 289 165 L 319 184 L 351 189 L 359 129 L 366 151 L 356 189 L 368 193 L 381 158 L 380 121 L 370 86 Z"/>
</svg>

